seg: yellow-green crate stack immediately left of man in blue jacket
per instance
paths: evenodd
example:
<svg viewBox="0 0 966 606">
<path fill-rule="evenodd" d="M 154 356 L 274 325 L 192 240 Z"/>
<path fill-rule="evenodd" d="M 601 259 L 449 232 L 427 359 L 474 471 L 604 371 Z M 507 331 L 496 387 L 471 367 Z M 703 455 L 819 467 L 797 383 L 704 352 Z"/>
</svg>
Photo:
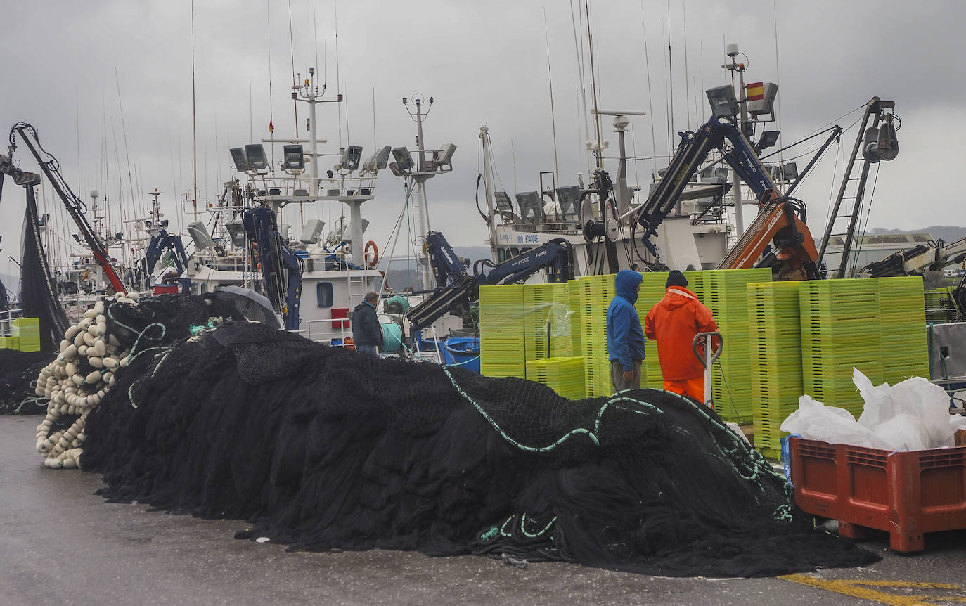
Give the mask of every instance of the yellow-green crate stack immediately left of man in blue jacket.
<svg viewBox="0 0 966 606">
<path fill-rule="evenodd" d="M 607 308 L 614 296 L 613 275 L 588 275 L 580 283 L 584 388 L 587 397 L 610 395 L 611 361 L 607 351 Z M 643 369 L 641 369 L 641 373 Z M 643 377 L 641 377 L 643 383 Z"/>
</svg>

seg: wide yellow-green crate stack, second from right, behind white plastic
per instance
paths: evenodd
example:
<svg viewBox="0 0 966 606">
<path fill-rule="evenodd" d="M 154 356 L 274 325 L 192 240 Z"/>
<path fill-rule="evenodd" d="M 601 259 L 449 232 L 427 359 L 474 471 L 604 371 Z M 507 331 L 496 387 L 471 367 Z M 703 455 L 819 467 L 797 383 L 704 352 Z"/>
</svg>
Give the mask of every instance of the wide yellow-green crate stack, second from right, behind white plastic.
<svg viewBox="0 0 966 606">
<path fill-rule="evenodd" d="M 873 385 L 884 381 L 879 280 L 809 280 L 800 284 L 805 393 L 858 417 L 863 400 L 852 368 Z"/>
</svg>

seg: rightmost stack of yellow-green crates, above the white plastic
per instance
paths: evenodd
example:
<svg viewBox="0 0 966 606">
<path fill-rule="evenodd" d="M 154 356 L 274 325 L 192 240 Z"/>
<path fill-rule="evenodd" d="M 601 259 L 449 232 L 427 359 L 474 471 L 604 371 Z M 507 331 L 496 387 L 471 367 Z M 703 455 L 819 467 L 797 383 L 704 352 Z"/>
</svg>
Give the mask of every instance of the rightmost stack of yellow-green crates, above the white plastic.
<svg viewBox="0 0 966 606">
<path fill-rule="evenodd" d="M 889 384 L 909 377 L 929 378 L 923 278 L 880 277 L 882 379 Z"/>
</svg>

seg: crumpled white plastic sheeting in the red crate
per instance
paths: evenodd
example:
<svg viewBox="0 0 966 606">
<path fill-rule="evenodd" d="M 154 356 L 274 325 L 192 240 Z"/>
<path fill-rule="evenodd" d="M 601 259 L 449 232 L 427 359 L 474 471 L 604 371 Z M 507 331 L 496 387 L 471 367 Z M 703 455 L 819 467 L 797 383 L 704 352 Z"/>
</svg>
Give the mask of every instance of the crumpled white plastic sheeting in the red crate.
<svg viewBox="0 0 966 606">
<path fill-rule="evenodd" d="M 865 400 L 859 420 L 844 409 L 803 395 L 798 410 L 781 423 L 781 431 L 830 444 L 923 450 L 955 446 L 953 434 L 966 429 L 966 418 L 950 415 L 946 390 L 922 377 L 895 386 L 873 386 L 866 375 L 853 368 L 852 381 Z"/>
</svg>

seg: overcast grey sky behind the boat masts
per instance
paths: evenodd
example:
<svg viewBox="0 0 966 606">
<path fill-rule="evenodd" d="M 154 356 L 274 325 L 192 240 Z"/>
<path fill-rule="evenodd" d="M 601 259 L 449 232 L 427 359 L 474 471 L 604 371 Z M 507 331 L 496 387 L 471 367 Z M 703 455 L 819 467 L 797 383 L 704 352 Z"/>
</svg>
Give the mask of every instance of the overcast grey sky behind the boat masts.
<svg viewBox="0 0 966 606">
<path fill-rule="evenodd" d="M 458 150 L 453 173 L 428 183 L 431 225 L 453 244 L 483 245 L 486 227 L 473 208 L 481 125 L 492 133 L 499 189 L 538 188 L 539 171 L 554 169 L 554 126 L 560 185 L 575 184 L 586 169 L 579 52 L 587 106 L 593 101 L 585 16 L 578 17 L 582 4 L 196 0 L 201 204 L 232 177 L 229 147 L 269 136 L 270 118 L 276 135 L 294 134 L 293 63 L 302 74 L 315 66 L 327 96 L 342 92 L 347 100 L 341 133 L 334 103 L 320 114 L 325 151 L 334 151 L 340 137 L 362 145 L 363 156 L 374 140 L 413 149 L 415 125 L 401 99 L 414 93 L 435 98 L 425 123 L 427 146 L 453 142 Z M 854 110 L 873 96 L 895 101 L 900 153 L 879 164 L 877 174 L 873 169 L 869 228 L 964 223 L 958 185 L 966 165 L 959 132 L 966 124 L 966 80 L 954 66 L 966 49 L 966 3 L 590 0 L 589 6 L 599 105 L 648 112 L 631 122 L 629 152 L 648 158 L 631 169 L 632 183 L 646 190 L 654 166 L 649 158 L 667 156 L 669 131 L 694 129 L 707 119 L 703 91 L 728 81 L 721 65 L 725 43 L 734 42 L 747 55 L 746 81 L 780 84 L 785 144 L 832 124 L 852 125 L 859 118 Z M 166 213 L 177 224 L 176 206 L 184 205 L 180 200 L 192 187 L 190 2 L 0 0 L 0 8 L 0 41 L 7 50 L 0 127 L 18 121 L 37 127 L 47 151 L 62 160 L 71 187 L 85 198 L 98 188 L 116 203 L 129 200 L 134 189 L 143 203 L 144 192 L 161 189 Z M 610 123 L 603 120 L 601 127 L 613 157 Z M 824 230 L 840 178 L 835 161 L 840 166 L 854 137 L 854 129 L 847 132 L 797 191 L 816 235 Z M 676 143 L 674 135 L 670 147 Z M 24 168 L 33 165 L 23 147 L 15 158 Z M 798 159 L 799 166 L 805 161 Z M 18 257 L 23 196 L 7 186 L 0 205 L 4 256 Z M 363 206 L 372 221 L 367 239 L 386 241 L 403 199 L 401 180 L 385 171 L 376 199 Z M 331 225 L 337 211 L 319 216 Z"/>
</svg>

